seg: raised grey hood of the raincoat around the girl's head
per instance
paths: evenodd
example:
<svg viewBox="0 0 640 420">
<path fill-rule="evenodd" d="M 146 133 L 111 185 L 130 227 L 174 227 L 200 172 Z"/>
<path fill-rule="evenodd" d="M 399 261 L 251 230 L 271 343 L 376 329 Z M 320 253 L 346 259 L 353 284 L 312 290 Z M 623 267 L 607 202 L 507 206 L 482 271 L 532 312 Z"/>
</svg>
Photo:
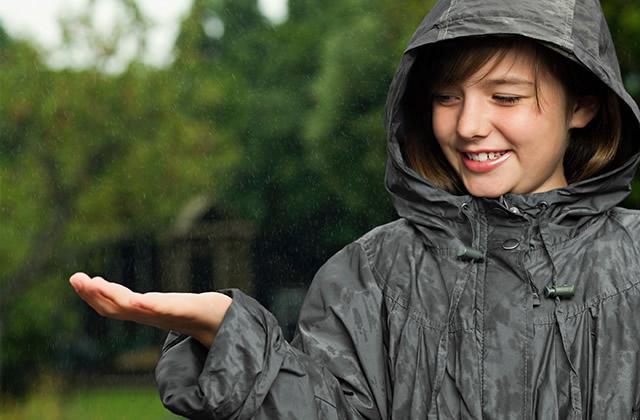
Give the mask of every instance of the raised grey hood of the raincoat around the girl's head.
<svg viewBox="0 0 640 420">
<path fill-rule="evenodd" d="M 607 173 L 562 189 L 534 194 L 506 194 L 500 199 L 454 195 L 434 187 L 412 170 L 401 152 L 403 115 L 401 103 L 416 57 L 443 40 L 468 36 L 522 35 L 542 41 L 557 52 L 581 63 L 612 89 L 623 104 L 622 141 L 629 159 Z M 625 90 L 613 41 L 598 0 L 443 0 L 439 1 L 414 33 L 404 52 L 389 90 L 385 127 L 388 139 L 386 187 L 401 217 L 417 225 L 459 218 L 468 203 L 488 203 L 509 210 L 536 209 L 544 202 L 546 212 L 560 223 L 562 218 L 600 214 L 619 204 L 631 191 L 638 165 L 638 106 Z M 437 224 L 437 223 L 436 223 Z M 440 230 L 450 228 L 440 224 Z M 460 237 L 460 232 L 454 233 Z M 468 238 L 469 240 L 471 238 Z"/>
</svg>

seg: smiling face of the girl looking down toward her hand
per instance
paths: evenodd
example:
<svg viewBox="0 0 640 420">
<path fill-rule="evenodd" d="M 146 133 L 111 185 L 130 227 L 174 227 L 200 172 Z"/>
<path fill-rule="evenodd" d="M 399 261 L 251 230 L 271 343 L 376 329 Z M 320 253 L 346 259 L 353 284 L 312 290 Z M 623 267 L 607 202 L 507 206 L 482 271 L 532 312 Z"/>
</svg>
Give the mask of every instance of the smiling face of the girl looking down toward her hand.
<svg viewBox="0 0 640 420">
<path fill-rule="evenodd" d="M 536 98 L 531 55 L 509 52 L 461 84 L 433 91 L 434 135 L 471 195 L 567 185 L 562 161 L 568 131 L 586 122 L 567 109 L 565 89 L 545 71 L 538 76 Z"/>
</svg>

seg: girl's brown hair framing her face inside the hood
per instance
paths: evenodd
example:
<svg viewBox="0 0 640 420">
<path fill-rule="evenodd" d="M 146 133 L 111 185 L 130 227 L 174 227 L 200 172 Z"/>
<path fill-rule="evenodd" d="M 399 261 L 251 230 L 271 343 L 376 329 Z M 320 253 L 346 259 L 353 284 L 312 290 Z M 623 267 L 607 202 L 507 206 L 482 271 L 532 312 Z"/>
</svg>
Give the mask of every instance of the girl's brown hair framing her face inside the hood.
<svg viewBox="0 0 640 420">
<path fill-rule="evenodd" d="M 540 42 L 520 36 L 485 36 L 443 41 L 418 51 L 401 105 L 407 128 L 402 138 L 403 153 L 411 168 L 436 187 L 451 193 L 466 192 L 433 136 L 431 90 L 434 86 L 460 83 L 493 58 L 497 65 L 510 51 L 523 49 L 534 57 L 537 93 L 539 77 L 545 72 L 564 86 L 568 111 L 580 96 L 595 96 L 600 104 L 589 124 L 570 130 L 564 156 L 567 182 L 581 181 L 618 163 L 622 116 L 619 98 L 613 91 L 589 70 Z M 539 97 L 537 100 L 540 106 Z"/>
</svg>

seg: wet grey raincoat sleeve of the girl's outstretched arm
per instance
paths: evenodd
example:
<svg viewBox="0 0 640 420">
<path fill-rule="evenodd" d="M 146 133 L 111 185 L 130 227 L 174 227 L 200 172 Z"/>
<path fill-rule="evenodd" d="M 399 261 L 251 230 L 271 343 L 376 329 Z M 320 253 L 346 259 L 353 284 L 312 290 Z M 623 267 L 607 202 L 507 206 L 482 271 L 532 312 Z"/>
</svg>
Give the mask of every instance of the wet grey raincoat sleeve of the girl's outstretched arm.
<svg viewBox="0 0 640 420">
<path fill-rule="evenodd" d="M 171 332 L 156 367 L 163 404 L 194 419 L 382 419 L 381 291 L 355 242 L 316 274 L 296 338 L 238 290 L 210 349 Z"/>
</svg>

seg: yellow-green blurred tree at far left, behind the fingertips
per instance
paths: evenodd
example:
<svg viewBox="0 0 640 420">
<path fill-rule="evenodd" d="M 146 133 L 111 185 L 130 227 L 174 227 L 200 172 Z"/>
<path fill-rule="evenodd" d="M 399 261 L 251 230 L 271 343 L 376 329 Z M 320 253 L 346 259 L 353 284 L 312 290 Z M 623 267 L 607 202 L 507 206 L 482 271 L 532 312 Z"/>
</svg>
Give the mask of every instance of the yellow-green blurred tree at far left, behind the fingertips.
<svg viewBox="0 0 640 420">
<path fill-rule="evenodd" d="M 72 341 L 57 321 L 69 326 L 74 317 L 52 299 L 71 295 L 61 279 L 81 269 L 87 250 L 166 229 L 193 195 L 214 192 L 234 162 L 208 121 L 176 112 L 172 73 L 139 62 L 106 72 L 118 39 L 88 36 L 90 13 L 66 31 L 98 44 L 88 69 L 53 71 L 22 42 L 0 50 L 0 373 L 12 392 L 50 363 L 52 342 Z"/>
</svg>

